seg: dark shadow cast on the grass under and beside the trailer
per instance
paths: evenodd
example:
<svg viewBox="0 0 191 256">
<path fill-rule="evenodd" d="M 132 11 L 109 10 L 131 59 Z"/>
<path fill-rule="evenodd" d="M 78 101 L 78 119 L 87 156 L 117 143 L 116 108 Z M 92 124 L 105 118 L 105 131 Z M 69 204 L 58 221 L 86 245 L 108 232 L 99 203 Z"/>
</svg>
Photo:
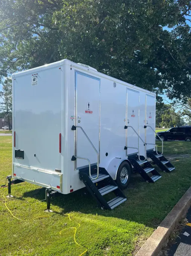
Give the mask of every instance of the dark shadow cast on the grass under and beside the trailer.
<svg viewBox="0 0 191 256">
<path fill-rule="evenodd" d="M 185 162 L 185 161 L 184 161 Z M 86 188 L 77 190 L 68 195 L 60 194 L 51 199 L 52 207 L 60 207 L 60 213 L 81 212 L 84 214 L 116 217 L 142 223 L 145 226 L 156 228 L 166 217 L 185 191 L 191 186 L 189 167 L 191 160 L 185 166 L 183 161 L 175 161 L 176 170 L 171 173 L 160 171 L 162 178 L 156 183 L 146 183 L 139 174 L 132 175 L 129 187 L 123 190 L 127 201 L 114 210 L 101 210 Z M 181 172 L 184 170 L 184 172 Z M 45 198 L 45 189 L 39 188 L 25 192 L 24 197 L 34 197 L 38 200 Z M 112 193 L 107 195 L 106 201 L 112 199 Z M 44 202 L 46 208 L 46 202 Z"/>
</svg>

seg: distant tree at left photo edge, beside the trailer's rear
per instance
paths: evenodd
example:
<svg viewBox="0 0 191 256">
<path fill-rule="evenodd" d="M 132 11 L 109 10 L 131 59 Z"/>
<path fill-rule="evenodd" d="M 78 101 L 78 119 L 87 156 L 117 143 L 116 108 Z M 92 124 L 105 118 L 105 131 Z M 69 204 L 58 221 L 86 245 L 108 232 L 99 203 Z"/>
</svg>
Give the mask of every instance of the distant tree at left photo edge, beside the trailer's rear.
<svg viewBox="0 0 191 256">
<path fill-rule="evenodd" d="M 6 78 L 0 91 L 0 111 L 2 116 L 8 118 L 10 130 L 10 118 L 12 118 L 12 79 Z"/>
</svg>

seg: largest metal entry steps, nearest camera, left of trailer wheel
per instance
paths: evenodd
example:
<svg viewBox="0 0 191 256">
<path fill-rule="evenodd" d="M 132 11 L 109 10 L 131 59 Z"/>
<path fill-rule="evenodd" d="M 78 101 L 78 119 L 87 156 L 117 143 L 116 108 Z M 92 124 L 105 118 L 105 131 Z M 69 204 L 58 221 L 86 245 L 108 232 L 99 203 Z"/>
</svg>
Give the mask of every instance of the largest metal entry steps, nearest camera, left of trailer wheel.
<svg viewBox="0 0 191 256">
<path fill-rule="evenodd" d="M 93 178 L 97 177 L 97 165 L 91 166 L 91 176 Z M 112 210 L 127 200 L 126 196 L 104 168 L 99 168 L 99 176 L 96 180 L 90 178 L 89 167 L 79 170 L 79 178 L 102 209 Z M 116 197 L 107 201 L 104 195 L 110 192 L 113 192 Z"/>
</svg>

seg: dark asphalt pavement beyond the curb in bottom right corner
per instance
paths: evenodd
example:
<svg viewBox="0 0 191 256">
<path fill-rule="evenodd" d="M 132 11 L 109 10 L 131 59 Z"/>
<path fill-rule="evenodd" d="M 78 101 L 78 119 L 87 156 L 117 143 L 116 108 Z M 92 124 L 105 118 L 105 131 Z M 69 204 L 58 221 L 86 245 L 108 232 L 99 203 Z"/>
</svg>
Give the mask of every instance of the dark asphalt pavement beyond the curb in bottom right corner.
<svg viewBox="0 0 191 256">
<path fill-rule="evenodd" d="M 191 208 L 187 213 L 188 223 L 191 223 Z M 184 232 L 190 234 L 188 237 Z M 170 247 L 167 256 L 191 256 L 191 226 L 185 226 L 176 238 L 176 243 Z"/>
</svg>

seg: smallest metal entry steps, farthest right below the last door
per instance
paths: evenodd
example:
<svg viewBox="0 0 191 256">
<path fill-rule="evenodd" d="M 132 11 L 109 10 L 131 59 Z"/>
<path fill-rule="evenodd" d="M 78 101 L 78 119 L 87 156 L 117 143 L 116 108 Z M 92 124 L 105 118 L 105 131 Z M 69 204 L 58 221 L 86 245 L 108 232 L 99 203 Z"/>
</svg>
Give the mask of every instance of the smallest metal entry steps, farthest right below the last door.
<svg viewBox="0 0 191 256">
<path fill-rule="evenodd" d="M 159 166 L 163 172 L 172 172 L 175 170 L 175 167 L 166 159 L 166 157 L 163 155 L 159 156 L 154 150 L 147 151 L 147 157 L 153 160 L 154 164 Z"/>
</svg>

